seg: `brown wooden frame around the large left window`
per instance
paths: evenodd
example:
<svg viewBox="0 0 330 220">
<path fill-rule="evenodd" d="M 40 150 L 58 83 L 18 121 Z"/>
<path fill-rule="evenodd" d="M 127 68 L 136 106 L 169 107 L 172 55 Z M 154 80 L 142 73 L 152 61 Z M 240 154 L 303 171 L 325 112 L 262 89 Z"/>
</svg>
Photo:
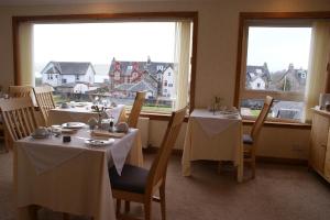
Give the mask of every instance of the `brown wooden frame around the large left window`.
<svg viewBox="0 0 330 220">
<path fill-rule="evenodd" d="M 19 62 L 19 28 L 23 22 L 32 23 L 87 23 L 87 22 L 134 22 L 134 21 L 180 21 L 190 20 L 193 22 L 191 37 L 191 57 L 190 57 L 190 92 L 189 92 L 189 112 L 195 108 L 195 87 L 196 87 L 196 69 L 197 69 L 197 36 L 198 36 L 198 12 L 197 11 L 178 11 L 178 12 L 136 12 L 136 13 L 97 13 L 97 14 L 58 14 L 58 15 L 24 15 L 12 16 L 12 43 L 13 43 L 13 69 L 14 85 L 20 86 L 22 73 L 20 73 Z M 151 118 L 164 118 L 169 120 L 170 112 L 143 112 Z"/>
</svg>

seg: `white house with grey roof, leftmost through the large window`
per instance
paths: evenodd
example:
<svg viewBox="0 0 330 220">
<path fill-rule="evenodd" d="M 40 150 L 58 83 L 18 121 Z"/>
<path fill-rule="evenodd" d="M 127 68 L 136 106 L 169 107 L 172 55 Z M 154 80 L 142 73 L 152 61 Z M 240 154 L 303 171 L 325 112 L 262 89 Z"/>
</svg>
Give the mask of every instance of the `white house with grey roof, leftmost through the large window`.
<svg viewBox="0 0 330 220">
<path fill-rule="evenodd" d="M 82 62 L 50 62 L 42 74 L 42 84 L 53 87 L 70 84 L 95 82 L 95 69 L 91 63 Z"/>
</svg>

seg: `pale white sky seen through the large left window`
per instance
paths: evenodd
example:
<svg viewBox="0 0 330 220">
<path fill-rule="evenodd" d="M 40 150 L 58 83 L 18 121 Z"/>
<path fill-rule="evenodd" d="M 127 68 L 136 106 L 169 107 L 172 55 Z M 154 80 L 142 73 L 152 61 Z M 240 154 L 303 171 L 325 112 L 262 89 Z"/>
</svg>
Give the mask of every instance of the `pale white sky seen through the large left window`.
<svg viewBox="0 0 330 220">
<path fill-rule="evenodd" d="M 35 24 L 34 63 L 173 62 L 174 22 Z"/>
</svg>

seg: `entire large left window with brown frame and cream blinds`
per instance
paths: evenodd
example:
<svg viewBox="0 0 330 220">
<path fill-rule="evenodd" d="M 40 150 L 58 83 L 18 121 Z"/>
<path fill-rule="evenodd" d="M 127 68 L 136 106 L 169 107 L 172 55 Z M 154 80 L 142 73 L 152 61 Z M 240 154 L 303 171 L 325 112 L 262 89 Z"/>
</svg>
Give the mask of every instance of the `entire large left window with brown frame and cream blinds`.
<svg viewBox="0 0 330 220">
<path fill-rule="evenodd" d="M 196 45 L 193 46 L 197 12 L 155 12 L 154 18 L 150 13 L 139 13 L 139 18 L 131 13 L 101 16 L 88 14 L 82 19 L 84 16 L 79 14 L 13 19 L 13 25 L 18 28 L 14 30 L 20 30 L 15 34 L 23 36 L 23 32 L 29 32 L 28 36 L 31 40 L 18 37 L 14 44 L 20 47 L 32 42 L 30 51 L 14 52 L 21 57 L 33 55 L 33 68 L 29 68 L 34 72 L 35 81 L 32 84 L 53 86 L 56 101 L 95 101 L 94 95 L 103 94 L 101 97 L 105 99 L 130 106 L 138 89 L 147 90 L 148 94 L 145 100 L 147 108 L 143 110 L 170 112 L 180 105 L 186 106 L 187 101 L 194 107 L 194 97 L 189 97 L 189 92 L 194 94 L 195 86 L 190 85 L 190 80 L 195 81 L 196 59 L 193 59 L 193 64 L 189 61 L 197 48 Z M 134 41 L 131 37 L 132 32 L 135 33 Z M 21 41 L 25 44 L 21 44 Z M 45 50 L 46 47 L 48 50 Z M 24 69 L 25 64 L 20 61 L 15 61 L 15 64 L 20 69 Z M 56 69 L 59 80 L 52 84 L 43 80 L 46 77 L 43 76 L 43 69 L 47 65 Z M 163 72 L 165 67 L 172 68 L 173 75 L 176 75 L 174 78 L 177 79 L 170 91 L 174 97 L 172 99 L 162 92 L 164 75 L 160 77 L 160 72 L 154 73 L 157 68 Z M 138 77 L 131 78 L 132 69 L 136 70 Z M 74 94 L 77 72 L 79 82 L 88 87 L 88 91 L 84 91 L 79 97 Z M 16 75 L 22 76 L 20 70 Z M 180 86 L 183 82 L 186 86 Z"/>
</svg>

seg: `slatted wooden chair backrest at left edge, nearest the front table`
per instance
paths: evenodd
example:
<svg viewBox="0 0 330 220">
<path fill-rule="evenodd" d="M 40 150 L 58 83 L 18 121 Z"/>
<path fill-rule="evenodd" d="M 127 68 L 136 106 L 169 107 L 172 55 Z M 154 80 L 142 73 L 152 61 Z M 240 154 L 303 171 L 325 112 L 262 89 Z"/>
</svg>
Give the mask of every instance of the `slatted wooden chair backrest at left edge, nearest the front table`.
<svg viewBox="0 0 330 220">
<path fill-rule="evenodd" d="M 0 100 L 3 122 L 13 141 L 29 136 L 37 128 L 30 97 Z"/>
</svg>

